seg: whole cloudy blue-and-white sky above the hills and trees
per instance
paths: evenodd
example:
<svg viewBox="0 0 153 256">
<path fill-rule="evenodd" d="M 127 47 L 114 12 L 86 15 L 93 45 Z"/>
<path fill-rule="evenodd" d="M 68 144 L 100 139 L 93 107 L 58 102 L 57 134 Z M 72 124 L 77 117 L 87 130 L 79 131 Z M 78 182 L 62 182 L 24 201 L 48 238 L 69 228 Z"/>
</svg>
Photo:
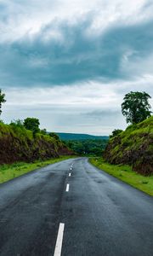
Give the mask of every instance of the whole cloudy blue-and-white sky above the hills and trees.
<svg viewBox="0 0 153 256">
<path fill-rule="evenodd" d="M 152 14 L 152 0 L 0 0 L 1 119 L 36 117 L 57 132 L 125 129 L 125 94 L 153 96 Z"/>
</svg>

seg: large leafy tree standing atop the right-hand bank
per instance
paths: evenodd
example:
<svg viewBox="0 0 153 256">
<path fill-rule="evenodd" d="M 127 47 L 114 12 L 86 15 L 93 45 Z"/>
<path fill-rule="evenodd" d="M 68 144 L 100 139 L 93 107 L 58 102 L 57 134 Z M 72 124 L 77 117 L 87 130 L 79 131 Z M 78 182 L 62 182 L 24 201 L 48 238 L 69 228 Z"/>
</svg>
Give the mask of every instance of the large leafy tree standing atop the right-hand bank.
<svg viewBox="0 0 153 256">
<path fill-rule="evenodd" d="M 150 95 L 146 92 L 130 91 L 122 102 L 122 114 L 126 116 L 127 123 L 138 124 L 151 115 Z"/>
</svg>

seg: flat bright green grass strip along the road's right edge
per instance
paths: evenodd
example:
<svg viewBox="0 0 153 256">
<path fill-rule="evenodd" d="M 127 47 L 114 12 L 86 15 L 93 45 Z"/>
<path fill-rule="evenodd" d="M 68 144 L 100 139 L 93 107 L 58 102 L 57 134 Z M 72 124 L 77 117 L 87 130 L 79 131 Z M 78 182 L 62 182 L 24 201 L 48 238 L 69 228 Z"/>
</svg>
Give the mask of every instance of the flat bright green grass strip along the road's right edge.
<svg viewBox="0 0 153 256">
<path fill-rule="evenodd" d="M 101 157 L 90 158 L 89 162 L 112 176 L 121 179 L 123 182 L 130 184 L 134 188 L 153 196 L 153 176 L 144 177 L 137 172 L 133 172 L 130 166 L 111 165 Z"/>
</svg>

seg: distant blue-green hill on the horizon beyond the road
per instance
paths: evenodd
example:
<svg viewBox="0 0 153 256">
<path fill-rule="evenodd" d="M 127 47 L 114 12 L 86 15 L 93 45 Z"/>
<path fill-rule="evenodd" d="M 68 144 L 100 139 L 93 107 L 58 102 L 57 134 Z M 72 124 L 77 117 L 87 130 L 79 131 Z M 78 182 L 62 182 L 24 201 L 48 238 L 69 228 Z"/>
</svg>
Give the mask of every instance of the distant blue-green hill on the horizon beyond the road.
<svg viewBox="0 0 153 256">
<path fill-rule="evenodd" d="M 89 134 L 79 134 L 79 133 L 64 133 L 56 132 L 59 138 L 63 141 L 73 141 L 73 140 L 108 140 L 108 136 L 94 136 Z"/>
</svg>

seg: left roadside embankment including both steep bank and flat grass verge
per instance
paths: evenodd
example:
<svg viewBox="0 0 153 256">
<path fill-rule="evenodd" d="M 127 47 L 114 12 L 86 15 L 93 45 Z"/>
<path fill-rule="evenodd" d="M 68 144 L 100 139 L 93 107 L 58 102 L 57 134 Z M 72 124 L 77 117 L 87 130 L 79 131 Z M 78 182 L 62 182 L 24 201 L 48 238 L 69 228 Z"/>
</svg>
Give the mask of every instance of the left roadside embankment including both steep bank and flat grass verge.
<svg viewBox="0 0 153 256">
<path fill-rule="evenodd" d="M 71 154 L 59 137 L 42 131 L 33 134 L 23 125 L 0 122 L 0 183 L 68 159 Z"/>
</svg>

